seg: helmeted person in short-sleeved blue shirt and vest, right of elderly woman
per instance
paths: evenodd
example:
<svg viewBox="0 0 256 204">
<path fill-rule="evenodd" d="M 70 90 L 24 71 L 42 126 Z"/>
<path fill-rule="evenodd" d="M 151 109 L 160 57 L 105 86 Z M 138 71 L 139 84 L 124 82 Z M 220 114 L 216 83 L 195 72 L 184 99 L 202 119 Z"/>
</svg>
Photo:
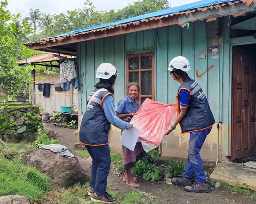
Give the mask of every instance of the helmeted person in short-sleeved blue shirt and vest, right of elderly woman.
<svg viewBox="0 0 256 204">
<path fill-rule="evenodd" d="M 182 134 L 188 132 L 190 134 L 186 171 L 180 178 L 172 178 L 172 183 L 184 186 L 188 192 L 208 192 L 208 182 L 199 152 L 215 120 L 202 88 L 186 73 L 189 69 L 188 59 L 182 56 L 173 58 L 168 68 L 173 80 L 178 81 L 180 87 L 177 101 L 166 105 L 176 106 L 178 117 L 166 130 L 165 135 L 172 132 L 178 123 L 180 123 Z M 192 182 L 194 174 L 195 184 Z"/>
</svg>

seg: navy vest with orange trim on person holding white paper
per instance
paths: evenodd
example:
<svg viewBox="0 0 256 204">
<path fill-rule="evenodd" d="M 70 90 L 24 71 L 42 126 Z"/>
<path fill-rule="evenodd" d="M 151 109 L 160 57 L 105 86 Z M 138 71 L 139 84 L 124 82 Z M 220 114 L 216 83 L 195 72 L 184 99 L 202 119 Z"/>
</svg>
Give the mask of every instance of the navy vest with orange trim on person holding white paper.
<svg viewBox="0 0 256 204">
<path fill-rule="evenodd" d="M 87 103 L 97 90 L 98 88 L 90 93 Z M 109 94 L 112 95 L 108 91 L 97 93 L 87 107 L 79 131 L 79 140 L 82 144 L 98 146 L 107 145 L 109 143 L 108 132 L 110 130 L 110 123 L 106 118 L 102 107 L 103 99 Z"/>
</svg>

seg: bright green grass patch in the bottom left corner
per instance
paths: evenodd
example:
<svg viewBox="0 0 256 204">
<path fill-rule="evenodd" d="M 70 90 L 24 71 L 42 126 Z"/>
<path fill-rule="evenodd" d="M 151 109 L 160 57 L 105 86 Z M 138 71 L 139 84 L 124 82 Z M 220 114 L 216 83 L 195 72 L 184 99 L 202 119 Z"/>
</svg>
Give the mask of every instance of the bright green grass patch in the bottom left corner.
<svg viewBox="0 0 256 204">
<path fill-rule="evenodd" d="M 0 172 L 0 195 L 22 195 L 37 201 L 52 188 L 49 176 L 23 165 L 17 158 L 9 160 L 1 154 Z"/>
</svg>

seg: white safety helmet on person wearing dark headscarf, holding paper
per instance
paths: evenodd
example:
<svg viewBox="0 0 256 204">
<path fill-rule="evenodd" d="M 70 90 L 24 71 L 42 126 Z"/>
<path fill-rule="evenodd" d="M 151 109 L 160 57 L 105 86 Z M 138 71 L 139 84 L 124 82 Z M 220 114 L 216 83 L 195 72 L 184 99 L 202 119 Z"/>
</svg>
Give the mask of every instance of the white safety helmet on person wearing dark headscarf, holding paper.
<svg viewBox="0 0 256 204">
<path fill-rule="evenodd" d="M 102 63 L 96 71 L 96 78 L 109 79 L 113 75 L 118 76 L 116 68 L 110 63 Z"/>
</svg>

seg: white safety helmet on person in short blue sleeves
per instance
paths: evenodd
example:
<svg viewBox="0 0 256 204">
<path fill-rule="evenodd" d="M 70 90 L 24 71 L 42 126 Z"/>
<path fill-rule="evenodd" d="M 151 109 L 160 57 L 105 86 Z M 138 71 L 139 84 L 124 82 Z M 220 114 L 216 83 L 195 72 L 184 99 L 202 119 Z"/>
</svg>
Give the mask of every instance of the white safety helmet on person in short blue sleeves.
<svg viewBox="0 0 256 204">
<path fill-rule="evenodd" d="M 173 72 L 176 69 L 180 69 L 184 72 L 187 72 L 190 69 L 190 63 L 188 59 L 182 56 L 174 57 L 172 61 L 170 61 L 169 63 L 168 70 Z"/>
</svg>

